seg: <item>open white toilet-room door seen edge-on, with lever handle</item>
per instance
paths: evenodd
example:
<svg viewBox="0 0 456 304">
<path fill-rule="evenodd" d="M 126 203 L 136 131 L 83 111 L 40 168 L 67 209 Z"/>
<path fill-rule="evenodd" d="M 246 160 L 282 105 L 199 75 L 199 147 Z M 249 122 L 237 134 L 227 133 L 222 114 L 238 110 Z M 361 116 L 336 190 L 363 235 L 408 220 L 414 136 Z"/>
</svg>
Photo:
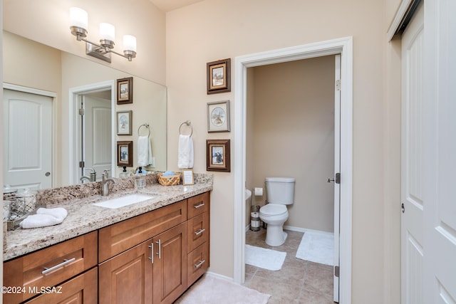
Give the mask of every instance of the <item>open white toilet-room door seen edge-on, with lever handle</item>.
<svg viewBox="0 0 456 304">
<path fill-rule="evenodd" d="M 333 300 L 339 301 L 339 236 L 341 216 L 341 56 L 336 55 L 334 90 L 334 267 Z"/>
</svg>

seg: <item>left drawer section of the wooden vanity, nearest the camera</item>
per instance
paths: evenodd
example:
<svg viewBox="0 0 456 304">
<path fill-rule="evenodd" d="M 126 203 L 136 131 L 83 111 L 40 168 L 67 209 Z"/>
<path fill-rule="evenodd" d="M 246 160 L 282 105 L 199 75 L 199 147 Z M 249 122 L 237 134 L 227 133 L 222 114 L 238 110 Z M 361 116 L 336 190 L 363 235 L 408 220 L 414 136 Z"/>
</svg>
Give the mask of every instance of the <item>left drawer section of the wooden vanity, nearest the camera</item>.
<svg viewBox="0 0 456 304">
<path fill-rule="evenodd" d="M 97 236 L 98 231 L 93 231 L 5 262 L 4 286 L 15 288 L 16 292 L 4 293 L 4 303 L 21 303 L 38 293 L 43 293 L 38 298 L 52 296 L 66 303 L 68 296 L 78 298 L 78 290 L 81 293 L 86 290 L 88 295 L 93 293 L 92 287 L 97 284 L 93 273 L 81 275 L 76 282 L 65 286 L 62 283 L 97 265 Z M 96 275 L 96 268 L 94 270 Z M 20 292 L 17 288 L 21 288 Z M 31 303 L 41 303 L 36 301 Z"/>
</svg>

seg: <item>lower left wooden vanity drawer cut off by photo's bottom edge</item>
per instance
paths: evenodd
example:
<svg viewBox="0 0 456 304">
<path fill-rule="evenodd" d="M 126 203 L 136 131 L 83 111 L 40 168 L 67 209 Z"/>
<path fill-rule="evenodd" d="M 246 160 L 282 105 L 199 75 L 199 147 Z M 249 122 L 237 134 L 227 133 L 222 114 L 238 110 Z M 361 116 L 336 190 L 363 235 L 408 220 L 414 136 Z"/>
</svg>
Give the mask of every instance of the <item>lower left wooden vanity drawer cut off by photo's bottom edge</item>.
<svg viewBox="0 0 456 304">
<path fill-rule="evenodd" d="M 92 268 L 90 271 L 83 273 L 70 281 L 58 285 L 49 293 L 44 293 L 36 298 L 27 301 L 27 304 L 96 304 L 98 300 L 97 290 L 97 268 Z"/>
</svg>

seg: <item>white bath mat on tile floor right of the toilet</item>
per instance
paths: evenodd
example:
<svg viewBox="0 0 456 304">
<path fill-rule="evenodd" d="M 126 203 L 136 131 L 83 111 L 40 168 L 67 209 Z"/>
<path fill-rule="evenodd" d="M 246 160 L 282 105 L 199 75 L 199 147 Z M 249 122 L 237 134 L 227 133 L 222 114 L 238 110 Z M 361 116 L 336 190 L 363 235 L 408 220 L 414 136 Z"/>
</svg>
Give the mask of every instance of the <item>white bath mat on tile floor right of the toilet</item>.
<svg viewBox="0 0 456 304">
<path fill-rule="evenodd" d="M 333 266 L 334 235 L 307 231 L 299 244 L 296 258 Z"/>
</svg>

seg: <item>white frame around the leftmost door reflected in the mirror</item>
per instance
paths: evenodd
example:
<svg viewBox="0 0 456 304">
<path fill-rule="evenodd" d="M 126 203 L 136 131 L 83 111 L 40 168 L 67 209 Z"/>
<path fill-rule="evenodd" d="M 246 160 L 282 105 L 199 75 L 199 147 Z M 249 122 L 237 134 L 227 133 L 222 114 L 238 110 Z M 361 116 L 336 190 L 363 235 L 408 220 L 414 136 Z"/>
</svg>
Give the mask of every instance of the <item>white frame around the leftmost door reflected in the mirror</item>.
<svg viewBox="0 0 456 304">
<path fill-rule="evenodd" d="M 36 88 L 28 88 L 22 85 L 14 85 L 12 83 L 3 83 L 3 88 L 6 90 L 16 90 L 23 93 L 31 93 L 35 95 L 46 96 L 52 98 L 52 135 L 51 135 L 51 153 L 52 153 L 52 160 L 51 160 L 51 185 L 54 187 L 56 184 L 56 167 L 57 167 L 57 157 L 56 157 L 56 98 L 57 93 L 47 91 L 47 90 L 39 90 Z"/>
</svg>

